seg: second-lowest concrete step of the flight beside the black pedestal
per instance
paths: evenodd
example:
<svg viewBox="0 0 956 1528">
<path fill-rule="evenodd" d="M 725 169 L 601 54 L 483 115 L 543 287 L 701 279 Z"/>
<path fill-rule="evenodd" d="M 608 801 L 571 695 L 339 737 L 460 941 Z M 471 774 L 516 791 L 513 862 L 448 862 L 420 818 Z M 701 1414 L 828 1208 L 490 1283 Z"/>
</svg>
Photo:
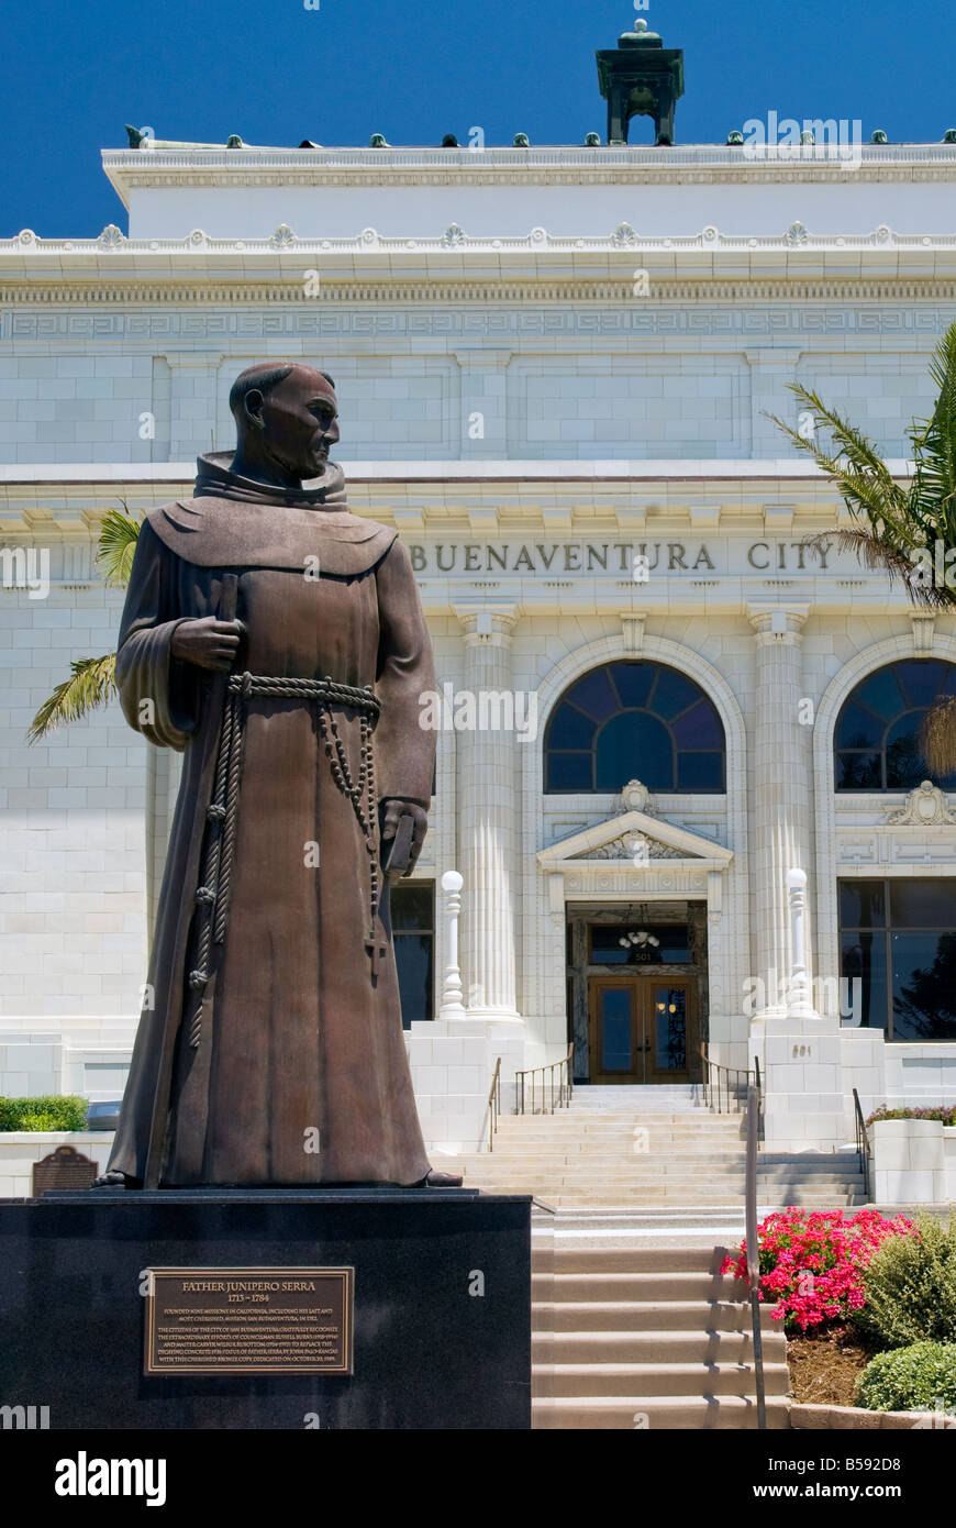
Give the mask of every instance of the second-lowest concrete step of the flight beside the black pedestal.
<svg viewBox="0 0 956 1528">
<path fill-rule="evenodd" d="M 754 1395 L 750 1363 L 536 1363 L 533 1395 Z M 786 1363 L 764 1363 L 767 1395 L 790 1394 Z"/>
</svg>

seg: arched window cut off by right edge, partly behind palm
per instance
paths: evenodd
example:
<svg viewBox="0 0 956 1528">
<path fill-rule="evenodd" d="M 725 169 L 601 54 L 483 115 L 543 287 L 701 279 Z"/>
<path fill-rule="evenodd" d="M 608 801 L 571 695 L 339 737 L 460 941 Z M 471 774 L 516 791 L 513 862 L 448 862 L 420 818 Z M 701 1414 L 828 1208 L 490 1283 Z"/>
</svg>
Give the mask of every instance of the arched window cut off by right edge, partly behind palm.
<svg viewBox="0 0 956 1528">
<path fill-rule="evenodd" d="M 834 732 L 837 790 L 912 790 L 924 779 L 956 790 L 956 775 L 936 778 L 919 747 L 922 720 L 944 695 L 956 695 L 956 663 L 942 659 L 903 659 L 860 680 Z"/>
</svg>

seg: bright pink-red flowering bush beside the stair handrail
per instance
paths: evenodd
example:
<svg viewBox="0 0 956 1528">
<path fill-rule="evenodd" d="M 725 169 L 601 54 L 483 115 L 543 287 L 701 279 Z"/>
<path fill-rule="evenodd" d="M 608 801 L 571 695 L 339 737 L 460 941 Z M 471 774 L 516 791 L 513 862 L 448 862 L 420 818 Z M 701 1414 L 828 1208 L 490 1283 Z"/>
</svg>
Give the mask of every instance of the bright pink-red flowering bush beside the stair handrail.
<svg viewBox="0 0 956 1528">
<path fill-rule="evenodd" d="M 759 1299 L 774 1299 L 774 1320 L 786 1331 L 809 1331 L 849 1319 L 864 1300 L 863 1270 L 886 1236 L 913 1235 L 906 1216 L 887 1221 L 878 1210 L 776 1210 L 757 1225 Z M 747 1242 L 727 1256 L 721 1273 L 747 1277 Z"/>
</svg>

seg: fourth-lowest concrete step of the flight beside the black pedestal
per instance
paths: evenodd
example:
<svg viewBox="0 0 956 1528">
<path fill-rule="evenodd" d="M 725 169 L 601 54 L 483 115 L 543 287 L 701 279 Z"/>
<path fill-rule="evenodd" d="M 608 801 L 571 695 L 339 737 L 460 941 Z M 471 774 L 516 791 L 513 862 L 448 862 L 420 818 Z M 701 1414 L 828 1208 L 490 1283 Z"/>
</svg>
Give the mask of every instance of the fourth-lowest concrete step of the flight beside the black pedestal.
<svg viewBox="0 0 956 1528">
<path fill-rule="evenodd" d="M 541 1288 L 533 1297 L 536 1331 L 631 1332 L 744 1332 L 750 1331 L 750 1303 L 741 1300 L 629 1300 L 609 1299 L 583 1288 L 554 1294 Z M 770 1309 L 761 1311 L 761 1329 L 779 1331 Z"/>
</svg>

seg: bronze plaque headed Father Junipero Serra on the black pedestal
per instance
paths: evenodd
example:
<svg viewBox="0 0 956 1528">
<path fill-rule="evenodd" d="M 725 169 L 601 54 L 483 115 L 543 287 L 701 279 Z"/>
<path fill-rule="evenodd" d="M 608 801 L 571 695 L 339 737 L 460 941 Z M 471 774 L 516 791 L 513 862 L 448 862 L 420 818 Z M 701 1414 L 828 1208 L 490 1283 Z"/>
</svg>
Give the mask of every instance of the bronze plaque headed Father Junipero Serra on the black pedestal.
<svg viewBox="0 0 956 1528">
<path fill-rule="evenodd" d="M 354 1268 L 148 1268 L 144 1374 L 351 1374 Z"/>
</svg>

